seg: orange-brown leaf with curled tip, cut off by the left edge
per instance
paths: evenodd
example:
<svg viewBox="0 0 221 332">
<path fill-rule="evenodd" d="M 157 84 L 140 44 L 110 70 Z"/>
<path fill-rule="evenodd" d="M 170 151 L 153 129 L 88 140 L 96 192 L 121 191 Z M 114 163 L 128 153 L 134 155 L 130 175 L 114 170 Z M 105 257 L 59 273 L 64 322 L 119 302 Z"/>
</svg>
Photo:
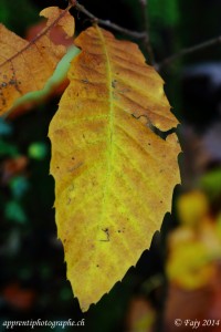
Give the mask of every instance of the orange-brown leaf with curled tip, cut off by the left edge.
<svg viewBox="0 0 221 332">
<path fill-rule="evenodd" d="M 51 40 L 51 28 L 61 27 L 66 35 L 74 34 L 74 19 L 67 9 L 50 7 L 40 14 L 48 18 L 48 24 L 31 42 L 0 24 L 0 115 L 20 96 L 42 90 L 65 54 L 66 46 Z"/>
</svg>

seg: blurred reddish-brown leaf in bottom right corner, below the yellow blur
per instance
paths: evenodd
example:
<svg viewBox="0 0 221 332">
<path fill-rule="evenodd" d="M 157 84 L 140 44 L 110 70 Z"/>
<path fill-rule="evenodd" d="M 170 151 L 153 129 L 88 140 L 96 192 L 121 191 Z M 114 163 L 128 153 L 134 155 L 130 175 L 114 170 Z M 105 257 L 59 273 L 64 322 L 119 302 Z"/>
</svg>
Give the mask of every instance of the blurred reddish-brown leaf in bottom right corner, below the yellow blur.
<svg viewBox="0 0 221 332">
<path fill-rule="evenodd" d="M 210 331 L 221 332 L 221 321 L 219 324 L 211 323 L 210 326 L 203 326 L 203 320 L 218 322 L 221 312 L 221 268 L 217 264 L 217 273 L 209 280 L 208 284 L 192 291 L 188 291 L 169 284 L 168 299 L 165 305 L 165 329 L 167 332 L 192 331 L 186 326 L 187 320 L 194 322 L 200 321 L 198 332 Z M 178 328 L 175 320 L 179 319 L 182 324 Z"/>
</svg>

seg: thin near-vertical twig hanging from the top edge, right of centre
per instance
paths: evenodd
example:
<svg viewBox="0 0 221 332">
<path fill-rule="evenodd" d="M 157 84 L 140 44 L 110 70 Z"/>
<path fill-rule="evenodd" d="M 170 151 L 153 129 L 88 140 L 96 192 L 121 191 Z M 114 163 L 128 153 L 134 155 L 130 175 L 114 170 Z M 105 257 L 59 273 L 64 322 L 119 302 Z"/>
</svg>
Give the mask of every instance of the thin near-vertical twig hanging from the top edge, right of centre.
<svg viewBox="0 0 221 332">
<path fill-rule="evenodd" d="M 139 0 L 139 3 L 141 6 L 141 13 L 144 19 L 144 28 L 146 31 L 146 34 L 144 37 L 144 45 L 146 46 L 147 53 L 149 55 L 149 63 L 155 64 L 155 55 L 152 51 L 152 46 L 149 39 L 149 18 L 148 18 L 148 0 Z"/>
</svg>

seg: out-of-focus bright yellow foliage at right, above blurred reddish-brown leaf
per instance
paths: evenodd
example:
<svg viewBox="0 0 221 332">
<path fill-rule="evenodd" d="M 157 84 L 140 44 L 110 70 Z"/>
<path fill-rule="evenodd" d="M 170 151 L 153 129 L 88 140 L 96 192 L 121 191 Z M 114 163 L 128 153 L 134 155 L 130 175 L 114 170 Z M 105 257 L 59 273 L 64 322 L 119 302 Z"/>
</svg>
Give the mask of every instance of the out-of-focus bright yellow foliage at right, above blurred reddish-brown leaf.
<svg viewBox="0 0 221 332">
<path fill-rule="evenodd" d="M 219 218 L 210 216 L 201 191 L 182 195 L 177 206 L 182 225 L 168 238 L 167 276 L 180 288 L 197 289 L 209 282 L 221 259 Z"/>
</svg>

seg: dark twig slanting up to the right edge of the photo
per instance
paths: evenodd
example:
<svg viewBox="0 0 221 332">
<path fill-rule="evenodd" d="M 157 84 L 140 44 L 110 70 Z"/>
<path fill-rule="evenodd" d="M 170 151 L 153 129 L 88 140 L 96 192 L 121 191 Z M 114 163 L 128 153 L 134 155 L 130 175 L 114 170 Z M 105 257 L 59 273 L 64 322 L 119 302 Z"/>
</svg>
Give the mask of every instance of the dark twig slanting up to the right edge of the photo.
<svg viewBox="0 0 221 332">
<path fill-rule="evenodd" d="M 200 43 L 198 45 L 182 49 L 180 52 L 178 52 L 178 53 L 176 53 L 176 54 L 173 54 L 171 56 L 168 56 L 165 60 L 162 60 L 160 63 L 156 64 L 155 68 L 159 71 L 165 65 L 170 64 L 171 62 L 173 62 L 175 60 L 177 60 L 177 59 L 179 59 L 181 56 L 185 56 L 185 55 L 188 55 L 188 54 L 192 54 L 192 53 L 198 52 L 198 51 L 202 51 L 204 49 L 218 45 L 220 43 L 221 43 L 221 35 L 219 35 L 219 37 L 217 37 L 214 39 L 210 39 L 210 40 L 208 40 L 208 41 L 206 41 L 203 43 Z"/>
</svg>

